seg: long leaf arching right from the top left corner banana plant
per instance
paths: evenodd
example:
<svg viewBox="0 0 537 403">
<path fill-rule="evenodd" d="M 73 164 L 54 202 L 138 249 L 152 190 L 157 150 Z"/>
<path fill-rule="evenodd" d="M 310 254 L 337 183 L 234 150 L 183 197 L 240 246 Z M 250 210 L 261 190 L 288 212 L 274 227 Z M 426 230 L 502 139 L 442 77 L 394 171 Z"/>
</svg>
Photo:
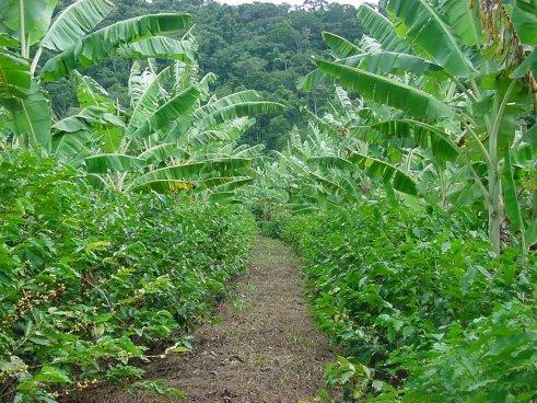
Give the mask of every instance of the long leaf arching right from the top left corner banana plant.
<svg viewBox="0 0 537 403">
<path fill-rule="evenodd" d="M 188 14 L 151 14 L 125 20 L 98 30 L 61 54 L 47 60 L 42 71 L 43 81 L 52 81 L 74 69 L 93 66 L 116 55 L 116 51 L 154 35 L 171 34 L 191 25 Z"/>
</svg>

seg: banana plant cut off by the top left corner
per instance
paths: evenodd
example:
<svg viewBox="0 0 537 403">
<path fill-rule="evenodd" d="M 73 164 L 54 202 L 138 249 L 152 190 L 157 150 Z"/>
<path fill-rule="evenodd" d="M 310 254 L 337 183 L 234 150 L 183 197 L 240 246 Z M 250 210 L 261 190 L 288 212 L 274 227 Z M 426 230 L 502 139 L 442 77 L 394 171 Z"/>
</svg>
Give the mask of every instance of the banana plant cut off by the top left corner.
<svg viewBox="0 0 537 403">
<path fill-rule="evenodd" d="M 109 0 L 77 0 L 55 15 L 57 0 L 0 0 L 0 106 L 21 147 L 50 150 L 51 113 L 42 88 L 110 57 L 191 61 L 189 39 L 166 35 L 188 30 L 184 13 L 133 18 L 95 30 L 112 12 Z M 48 59 L 39 68 L 43 55 Z"/>
</svg>

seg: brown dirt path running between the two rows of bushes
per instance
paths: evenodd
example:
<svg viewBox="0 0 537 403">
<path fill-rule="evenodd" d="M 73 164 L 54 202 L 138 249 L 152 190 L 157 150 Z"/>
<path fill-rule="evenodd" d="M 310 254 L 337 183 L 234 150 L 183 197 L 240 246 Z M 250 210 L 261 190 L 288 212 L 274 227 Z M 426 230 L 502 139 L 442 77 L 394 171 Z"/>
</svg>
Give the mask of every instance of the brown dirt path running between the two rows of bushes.
<svg viewBox="0 0 537 403">
<path fill-rule="evenodd" d="M 148 375 L 187 392 L 187 403 L 296 403 L 314 395 L 334 356 L 307 314 L 299 264 L 282 242 L 259 238 L 215 324 L 196 332 L 191 353 L 155 361 Z M 145 392 L 91 395 L 84 402 L 167 402 Z"/>
</svg>

